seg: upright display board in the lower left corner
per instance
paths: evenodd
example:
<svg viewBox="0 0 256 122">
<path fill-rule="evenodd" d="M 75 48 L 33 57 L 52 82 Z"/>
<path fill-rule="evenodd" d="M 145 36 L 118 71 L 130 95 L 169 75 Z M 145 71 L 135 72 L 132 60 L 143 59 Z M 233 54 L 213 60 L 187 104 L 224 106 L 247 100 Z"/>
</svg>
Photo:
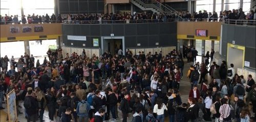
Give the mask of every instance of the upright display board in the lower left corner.
<svg viewBox="0 0 256 122">
<path fill-rule="evenodd" d="M 8 118 L 9 121 L 13 122 L 17 120 L 17 111 L 16 111 L 16 94 L 15 90 L 11 90 L 9 94 L 7 94 L 7 110 L 8 110 Z"/>
</svg>

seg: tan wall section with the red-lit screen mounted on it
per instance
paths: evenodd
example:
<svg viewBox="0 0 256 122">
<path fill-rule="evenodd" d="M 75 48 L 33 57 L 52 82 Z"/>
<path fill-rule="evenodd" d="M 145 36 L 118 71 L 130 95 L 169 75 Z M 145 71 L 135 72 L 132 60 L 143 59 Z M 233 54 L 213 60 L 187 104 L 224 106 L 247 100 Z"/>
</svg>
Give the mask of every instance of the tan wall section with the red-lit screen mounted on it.
<svg viewBox="0 0 256 122">
<path fill-rule="evenodd" d="M 196 29 L 206 29 L 208 37 L 197 37 Z M 187 35 L 194 36 L 194 38 L 187 38 Z M 210 39 L 210 36 L 217 37 L 217 39 Z M 220 41 L 221 36 L 221 22 L 193 22 L 193 21 L 179 21 L 177 22 L 177 38 L 178 39 L 200 39 L 200 40 L 217 40 Z"/>
</svg>

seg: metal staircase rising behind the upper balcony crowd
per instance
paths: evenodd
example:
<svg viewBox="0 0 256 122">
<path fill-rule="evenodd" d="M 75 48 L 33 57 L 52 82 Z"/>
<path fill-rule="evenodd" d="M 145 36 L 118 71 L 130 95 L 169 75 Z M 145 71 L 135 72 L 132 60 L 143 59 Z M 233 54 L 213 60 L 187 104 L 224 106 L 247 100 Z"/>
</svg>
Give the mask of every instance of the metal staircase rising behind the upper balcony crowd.
<svg viewBox="0 0 256 122">
<path fill-rule="evenodd" d="M 156 0 L 131 0 L 131 3 L 140 8 L 141 10 L 151 10 L 154 13 L 175 13 L 177 12 L 168 5 L 163 5 Z"/>
</svg>

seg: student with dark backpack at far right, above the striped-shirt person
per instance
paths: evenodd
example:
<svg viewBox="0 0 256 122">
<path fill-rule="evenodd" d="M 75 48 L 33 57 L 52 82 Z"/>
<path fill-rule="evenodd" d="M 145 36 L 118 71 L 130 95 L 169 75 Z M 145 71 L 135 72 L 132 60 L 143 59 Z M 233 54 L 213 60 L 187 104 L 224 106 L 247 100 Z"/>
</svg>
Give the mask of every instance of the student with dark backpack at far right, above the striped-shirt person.
<svg viewBox="0 0 256 122">
<path fill-rule="evenodd" d="M 244 100 L 245 95 L 245 87 L 242 85 L 242 81 L 240 78 L 237 79 L 237 84 L 234 86 L 233 94 L 237 95 L 239 99 Z"/>
</svg>

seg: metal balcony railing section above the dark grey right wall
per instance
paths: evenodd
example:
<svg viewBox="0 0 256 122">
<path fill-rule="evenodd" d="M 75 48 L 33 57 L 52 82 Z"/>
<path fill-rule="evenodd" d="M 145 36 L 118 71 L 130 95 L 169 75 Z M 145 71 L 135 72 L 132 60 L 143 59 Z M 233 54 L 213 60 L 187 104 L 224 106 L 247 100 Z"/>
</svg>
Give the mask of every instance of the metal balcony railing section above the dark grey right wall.
<svg viewBox="0 0 256 122">
<path fill-rule="evenodd" d="M 236 24 L 236 25 L 256 25 L 256 20 L 234 20 L 234 19 L 226 19 L 223 21 L 226 24 Z"/>
</svg>

